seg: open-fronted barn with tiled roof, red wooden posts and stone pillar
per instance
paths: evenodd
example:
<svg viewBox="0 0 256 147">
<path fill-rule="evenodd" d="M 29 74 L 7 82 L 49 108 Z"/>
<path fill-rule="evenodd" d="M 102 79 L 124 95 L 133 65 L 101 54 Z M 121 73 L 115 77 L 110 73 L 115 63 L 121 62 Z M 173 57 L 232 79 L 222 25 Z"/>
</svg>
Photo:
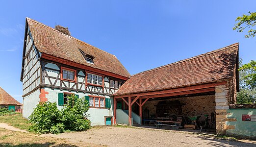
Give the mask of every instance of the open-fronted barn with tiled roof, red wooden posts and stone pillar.
<svg viewBox="0 0 256 147">
<path fill-rule="evenodd" d="M 239 90 L 238 48 L 236 43 L 130 76 L 113 94 L 114 123 L 207 127 L 225 134 L 227 109 Z"/>
</svg>

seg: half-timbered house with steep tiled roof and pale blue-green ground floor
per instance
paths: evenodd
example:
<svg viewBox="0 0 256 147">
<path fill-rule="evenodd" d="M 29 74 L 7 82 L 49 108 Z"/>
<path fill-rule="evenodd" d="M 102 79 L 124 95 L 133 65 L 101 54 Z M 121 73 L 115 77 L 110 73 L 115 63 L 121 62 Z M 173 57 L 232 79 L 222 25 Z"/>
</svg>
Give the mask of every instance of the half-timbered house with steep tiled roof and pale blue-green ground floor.
<svg viewBox="0 0 256 147">
<path fill-rule="evenodd" d="M 41 101 L 67 103 L 77 95 L 89 101 L 92 125 L 111 124 L 111 94 L 129 73 L 116 56 L 70 35 L 26 18 L 21 81 L 23 116 Z"/>
</svg>

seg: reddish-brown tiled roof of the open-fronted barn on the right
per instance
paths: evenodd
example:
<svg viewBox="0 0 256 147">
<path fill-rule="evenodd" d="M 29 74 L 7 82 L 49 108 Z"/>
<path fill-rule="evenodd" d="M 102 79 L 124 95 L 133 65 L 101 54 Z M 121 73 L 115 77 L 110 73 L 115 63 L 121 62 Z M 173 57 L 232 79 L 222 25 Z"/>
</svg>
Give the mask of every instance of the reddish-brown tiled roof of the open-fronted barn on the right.
<svg viewBox="0 0 256 147">
<path fill-rule="evenodd" d="M 184 87 L 230 79 L 239 44 L 131 75 L 114 95 Z"/>
</svg>

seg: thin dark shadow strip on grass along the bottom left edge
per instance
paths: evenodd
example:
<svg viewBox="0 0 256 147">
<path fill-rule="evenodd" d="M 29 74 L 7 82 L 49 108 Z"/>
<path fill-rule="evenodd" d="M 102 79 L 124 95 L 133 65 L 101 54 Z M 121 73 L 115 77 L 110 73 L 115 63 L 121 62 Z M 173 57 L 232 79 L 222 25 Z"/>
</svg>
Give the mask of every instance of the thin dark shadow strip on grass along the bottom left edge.
<svg viewBox="0 0 256 147">
<path fill-rule="evenodd" d="M 78 147 L 70 144 L 58 144 L 54 145 L 55 143 L 32 143 L 32 144 L 19 144 L 19 145 L 13 145 L 10 143 L 0 143 L 0 147 Z"/>
</svg>

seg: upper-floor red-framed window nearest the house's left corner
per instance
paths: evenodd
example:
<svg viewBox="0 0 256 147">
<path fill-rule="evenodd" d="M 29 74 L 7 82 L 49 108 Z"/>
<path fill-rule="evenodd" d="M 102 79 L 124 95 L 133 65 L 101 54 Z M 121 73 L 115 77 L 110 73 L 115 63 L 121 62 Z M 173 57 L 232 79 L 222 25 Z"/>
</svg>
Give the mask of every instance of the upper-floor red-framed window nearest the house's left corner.
<svg viewBox="0 0 256 147">
<path fill-rule="evenodd" d="M 72 82 L 77 81 L 77 71 L 76 70 L 61 67 L 60 74 L 61 74 L 61 80 L 72 81 Z"/>
</svg>

